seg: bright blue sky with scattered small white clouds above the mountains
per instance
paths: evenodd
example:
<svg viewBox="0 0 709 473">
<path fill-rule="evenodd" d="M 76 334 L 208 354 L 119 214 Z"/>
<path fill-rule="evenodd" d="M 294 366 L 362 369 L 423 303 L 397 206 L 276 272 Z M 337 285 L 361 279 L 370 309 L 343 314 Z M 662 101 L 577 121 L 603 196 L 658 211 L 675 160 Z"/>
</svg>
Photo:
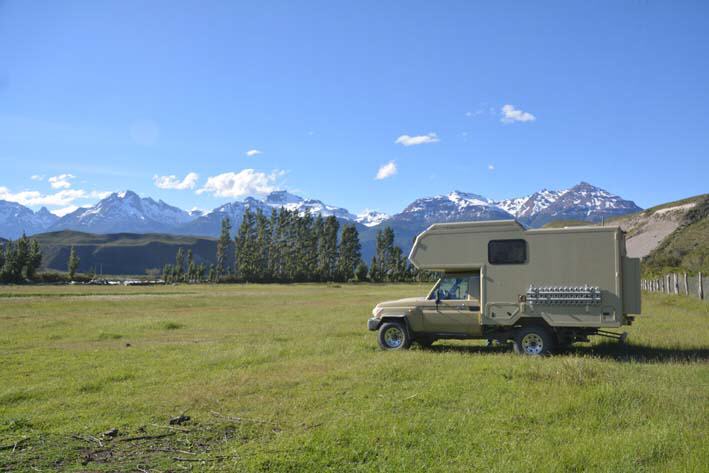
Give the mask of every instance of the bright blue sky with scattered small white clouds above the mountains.
<svg viewBox="0 0 709 473">
<path fill-rule="evenodd" d="M 708 150 L 707 2 L 0 0 L 0 198 L 35 209 L 582 180 L 647 207 L 709 191 Z"/>
</svg>

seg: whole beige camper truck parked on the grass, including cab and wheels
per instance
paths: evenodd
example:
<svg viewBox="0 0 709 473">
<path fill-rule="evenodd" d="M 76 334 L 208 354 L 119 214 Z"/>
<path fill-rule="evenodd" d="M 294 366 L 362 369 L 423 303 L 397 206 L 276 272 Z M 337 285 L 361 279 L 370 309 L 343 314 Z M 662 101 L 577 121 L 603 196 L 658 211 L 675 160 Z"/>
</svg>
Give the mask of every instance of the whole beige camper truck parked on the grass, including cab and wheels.
<svg viewBox="0 0 709 473">
<path fill-rule="evenodd" d="M 515 220 L 435 224 L 409 255 L 441 273 L 425 297 L 377 304 L 368 328 L 386 350 L 441 339 L 512 343 L 545 355 L 640 314 L 640 260 L 618 227 L 525 229 Z"/>
</svg>

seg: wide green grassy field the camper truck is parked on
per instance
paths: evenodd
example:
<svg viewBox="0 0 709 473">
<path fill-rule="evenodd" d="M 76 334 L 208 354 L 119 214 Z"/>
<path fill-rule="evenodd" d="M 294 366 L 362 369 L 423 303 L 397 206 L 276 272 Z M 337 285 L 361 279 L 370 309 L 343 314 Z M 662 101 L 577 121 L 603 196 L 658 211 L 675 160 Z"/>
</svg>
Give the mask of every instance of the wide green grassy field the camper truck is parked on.
<svg viewBox="0 0 709 473">
<path fill-rule="evenodd" d="M 0 288 L 0 471 L 709 471 L 709 304 L 545 359 L 380 351 L 372 306 L 424 292 Z"/>
</svg>

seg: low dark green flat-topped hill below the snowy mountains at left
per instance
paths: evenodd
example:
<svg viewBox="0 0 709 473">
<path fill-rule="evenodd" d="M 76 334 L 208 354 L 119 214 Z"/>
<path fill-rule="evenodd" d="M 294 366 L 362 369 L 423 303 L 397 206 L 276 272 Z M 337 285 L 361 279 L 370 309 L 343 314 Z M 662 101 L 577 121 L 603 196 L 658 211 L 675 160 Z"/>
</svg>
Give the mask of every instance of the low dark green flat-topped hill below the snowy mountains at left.
<svg viewBox="0 0 709 473">
<path fill-rule="evenodd" d="M 214 263 L 216 240 L 162 234 L 116 233 L 94 235 L 90 233 L 61 231 L 33 236 L 42 249 L 44 269 L 65 271 L 71 247 L 80 258 L 79 272 L 103 274 L 145 274 L 146 270 L 159 269 L 174 263 L 178 248 L 192 250 L 197 264 Z"/>
</svg>

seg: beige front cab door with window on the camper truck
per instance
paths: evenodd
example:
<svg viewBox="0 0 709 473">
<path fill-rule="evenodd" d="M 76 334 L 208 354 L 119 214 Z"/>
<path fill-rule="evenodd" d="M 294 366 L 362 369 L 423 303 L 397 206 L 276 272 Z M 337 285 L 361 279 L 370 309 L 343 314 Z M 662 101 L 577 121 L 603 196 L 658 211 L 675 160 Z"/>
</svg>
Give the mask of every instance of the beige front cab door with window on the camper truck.
<svg viewBox="0 0 709 473">
<path fill-rule="evenodd" d="M 423 308 L 426 332 L 480 335 L 478 275 L 449 275 L 441 279 Z M 438 303 L 436 303 L 438 295 Z"/>
</svg>

